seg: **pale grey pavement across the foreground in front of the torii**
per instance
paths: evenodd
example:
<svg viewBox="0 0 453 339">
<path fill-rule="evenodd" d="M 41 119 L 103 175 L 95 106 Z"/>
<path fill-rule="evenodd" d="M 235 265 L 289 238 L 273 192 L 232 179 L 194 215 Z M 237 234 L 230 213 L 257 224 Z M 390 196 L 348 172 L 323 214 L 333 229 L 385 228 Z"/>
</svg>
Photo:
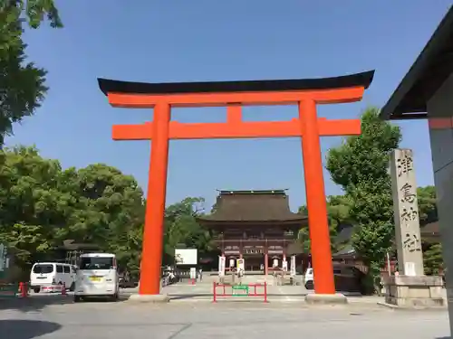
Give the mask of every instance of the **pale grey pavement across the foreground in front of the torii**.
<svg viewBox="0 0 453 339">
<path fill-rule="evenodd" d="M 63 296 L 34 297 L 27 305 L 2 303 L 0 337 L 5 339 L 447 339 L 449 335 L 446 311 L 395 311 L 363 303 L 72 304 L 71 297 Z"/>
</svg>

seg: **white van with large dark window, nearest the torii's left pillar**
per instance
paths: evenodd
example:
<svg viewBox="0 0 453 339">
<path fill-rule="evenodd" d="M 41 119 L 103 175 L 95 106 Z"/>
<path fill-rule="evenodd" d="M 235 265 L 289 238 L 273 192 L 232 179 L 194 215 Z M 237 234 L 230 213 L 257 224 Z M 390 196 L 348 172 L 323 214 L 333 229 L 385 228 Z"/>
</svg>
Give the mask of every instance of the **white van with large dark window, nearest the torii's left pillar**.
<svg viewBox="0 0 453 339">
<path fill-rule="evenodd" d="M 116 257 L 111 253 L 82 254 L 75 280 L 74 302 L 84 297 L 111 297 L 120 292 Z"/>
</svg>

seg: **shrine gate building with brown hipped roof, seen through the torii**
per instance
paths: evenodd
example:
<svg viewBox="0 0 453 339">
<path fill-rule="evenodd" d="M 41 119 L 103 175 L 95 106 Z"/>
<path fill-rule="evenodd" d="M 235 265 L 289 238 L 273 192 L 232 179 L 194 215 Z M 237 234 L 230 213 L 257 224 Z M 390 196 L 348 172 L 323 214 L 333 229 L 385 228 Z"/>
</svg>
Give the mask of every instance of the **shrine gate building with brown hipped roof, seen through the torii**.
<svg viewBox="0 0 453 339">
<path fill-rule="evenodd" d="M 268 274 L 275 264 L 282 268 L 294 254 L 298 231 L 308 227 L 306 216 L 290 211 L 284 190 L 220 191 L 214 212 L 198 222 L 213 233 L 226 270 L 243 258 L 246 271 L 258 274 Z"/>
</svg>

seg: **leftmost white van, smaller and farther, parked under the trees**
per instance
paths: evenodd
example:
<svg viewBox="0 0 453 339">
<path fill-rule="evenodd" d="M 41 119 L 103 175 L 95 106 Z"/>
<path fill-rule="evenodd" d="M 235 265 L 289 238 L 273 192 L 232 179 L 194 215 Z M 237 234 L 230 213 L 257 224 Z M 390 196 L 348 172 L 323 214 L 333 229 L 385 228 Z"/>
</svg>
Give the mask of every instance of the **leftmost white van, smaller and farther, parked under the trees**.
<svg viewBox="0 0 453 339">
<path fill-rule="evenodd" d="M 56 285 L 64 284 L 72 291 L 75 287 L 76 271 L 77 268 L 70 264 L 36 262 L 30 272 L 30 287 L 38 293 L 42 290 L 52 291 Z"/>
</svg>

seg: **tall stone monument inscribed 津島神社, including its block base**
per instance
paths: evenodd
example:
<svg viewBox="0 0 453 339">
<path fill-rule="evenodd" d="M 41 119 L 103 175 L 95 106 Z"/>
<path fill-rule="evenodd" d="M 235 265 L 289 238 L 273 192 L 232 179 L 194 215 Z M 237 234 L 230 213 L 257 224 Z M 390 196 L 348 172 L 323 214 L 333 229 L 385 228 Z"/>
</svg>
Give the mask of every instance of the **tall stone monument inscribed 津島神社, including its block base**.
<svg viewBox="0 0 453 339">
<path fill-rule="evenodd" d="M 419 226 L 419 203 L 413 153 L 395 149 L 390 156 L 395 243 L 399 274 L 384 278 L 385 301 L 397 306 L 443 306 L 443 281 L 425 276 Z"/>
</svg>

